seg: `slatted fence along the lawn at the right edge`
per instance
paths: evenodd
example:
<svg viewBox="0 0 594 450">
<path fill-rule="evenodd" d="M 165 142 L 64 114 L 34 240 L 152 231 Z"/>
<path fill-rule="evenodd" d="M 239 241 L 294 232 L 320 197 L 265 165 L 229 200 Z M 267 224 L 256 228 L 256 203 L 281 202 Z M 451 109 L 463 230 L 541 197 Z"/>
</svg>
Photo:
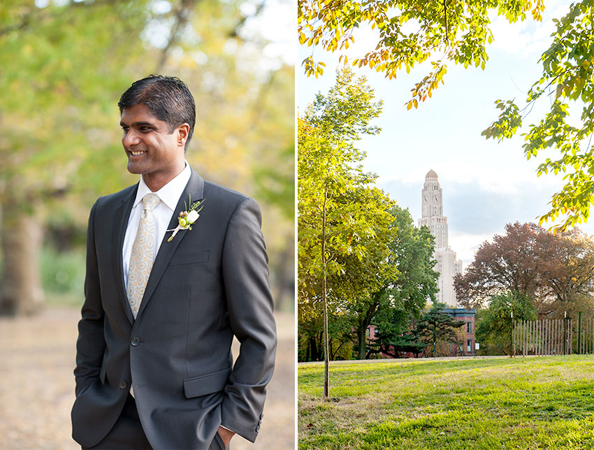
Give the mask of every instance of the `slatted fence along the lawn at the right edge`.
<svg viewBox="0 0 594 450">
<path fill-rule="evenodd" d="M 594 318 L 514 321 L 512 343 L 517 356 L 594 354 Z"/>
</svg>

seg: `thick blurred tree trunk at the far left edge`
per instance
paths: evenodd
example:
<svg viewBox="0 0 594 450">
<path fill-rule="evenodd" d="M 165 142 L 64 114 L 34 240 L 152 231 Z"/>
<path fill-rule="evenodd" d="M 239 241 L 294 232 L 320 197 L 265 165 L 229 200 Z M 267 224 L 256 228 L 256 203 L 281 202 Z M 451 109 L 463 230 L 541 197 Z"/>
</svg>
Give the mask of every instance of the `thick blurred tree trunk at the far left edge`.
<svg viewBox="0 0 594 450">
<path fill-rule="evenodd" d="M 39 273 L 42 228 L 34 212 L 6 191 L 2 198 L 1 245 L 3 274 L 0 314 L 36 314 L 43 306 Z"/>
</svg>

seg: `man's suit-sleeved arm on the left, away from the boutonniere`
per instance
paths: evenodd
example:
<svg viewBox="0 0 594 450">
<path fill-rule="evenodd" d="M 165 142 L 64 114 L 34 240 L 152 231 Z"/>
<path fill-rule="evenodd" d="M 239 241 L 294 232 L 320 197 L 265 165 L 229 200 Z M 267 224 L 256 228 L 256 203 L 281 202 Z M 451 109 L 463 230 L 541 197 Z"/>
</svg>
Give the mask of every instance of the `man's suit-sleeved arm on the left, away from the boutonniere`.
<svg viewBox="0 0 594 450">
<path fill-rule="evenodd" d="M 82 305 L 82 319 L 78 322 L 76 342 L 76 395 L 99 377 L 106 343 L 103 337 L 103 306 L 99 268 L 95 249 L 94 213 L 97 203 L 91 208 L 87 228 L 87 275 L 85 277 L 85 303 Z"/>
</svg>

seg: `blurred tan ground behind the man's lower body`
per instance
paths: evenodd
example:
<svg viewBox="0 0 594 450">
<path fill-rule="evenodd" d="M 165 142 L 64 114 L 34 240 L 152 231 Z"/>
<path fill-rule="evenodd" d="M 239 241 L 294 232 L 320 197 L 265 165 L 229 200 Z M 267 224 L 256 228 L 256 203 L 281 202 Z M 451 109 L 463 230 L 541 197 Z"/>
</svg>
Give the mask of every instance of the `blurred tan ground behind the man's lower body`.
<svg viewBox="0 0 594 450">
<path fill-rule="evenodd" d="M 0 317 L 0 449 L 80 449 L 70 435 L 79 317 L 65 307 L 36 317 Z M 233 450 L 294 449 L 294 315 L 275 317 L 277 364 L 262 430 L 256 444 L 234 437 Z"/>
</svg>

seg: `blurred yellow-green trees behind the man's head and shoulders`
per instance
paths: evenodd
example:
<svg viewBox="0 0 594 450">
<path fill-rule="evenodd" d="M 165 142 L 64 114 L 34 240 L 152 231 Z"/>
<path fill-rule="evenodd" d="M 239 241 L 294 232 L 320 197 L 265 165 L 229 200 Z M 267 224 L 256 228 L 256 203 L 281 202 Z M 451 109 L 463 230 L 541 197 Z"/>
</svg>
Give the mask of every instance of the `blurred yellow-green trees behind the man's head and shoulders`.
<svg viewBox="0 0 594 450">
<path fill-rule="evenodd" d="M 261 31 L 278 21 L 259 24 L 283 4 L 291 9 L 288 0 L 2 2 L 0 313 L 38 311 L 43 243 L 80 252 L 95 199 L 137 182 L 117 101 L 149 73 L 189 85 L 197 117 L 187 159 L 259 201 L 277 307 L 292 307 L 294 68 Z"/>
</svg>

